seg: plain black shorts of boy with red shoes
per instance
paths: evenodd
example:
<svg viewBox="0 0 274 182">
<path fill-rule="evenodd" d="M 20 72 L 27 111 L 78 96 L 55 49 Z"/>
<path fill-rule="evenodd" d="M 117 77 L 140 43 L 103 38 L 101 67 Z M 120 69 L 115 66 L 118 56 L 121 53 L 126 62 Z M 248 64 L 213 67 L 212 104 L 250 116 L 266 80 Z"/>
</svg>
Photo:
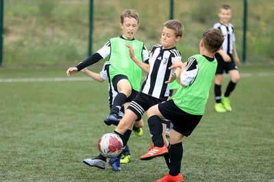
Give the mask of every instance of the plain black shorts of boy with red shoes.
<svg viewBox="0 0 274 182">
<path fill-rule="evenodd" d="M 171 120 L 173 129 L 186 137 L 197 127 L 202 117 L 184 112 L 172 99 L 158 104 L 158 109 L 164 118 Z"/>
</svg>

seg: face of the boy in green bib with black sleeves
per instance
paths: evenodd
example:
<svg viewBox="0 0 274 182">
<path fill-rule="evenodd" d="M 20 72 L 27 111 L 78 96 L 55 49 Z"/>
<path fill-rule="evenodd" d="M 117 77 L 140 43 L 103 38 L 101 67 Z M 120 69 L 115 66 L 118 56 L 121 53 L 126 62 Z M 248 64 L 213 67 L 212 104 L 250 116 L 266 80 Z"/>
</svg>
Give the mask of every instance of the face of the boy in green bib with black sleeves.
<svg viewBox="0 0 274 182">
<path fill-rule="evenodd" d="M 123 38 L 132 40 L 139 27 L 138 21 L 135 18 L 124 18 L 124 23 L 119 23 L 121 29 L 123 29 Z"/>
</svg>

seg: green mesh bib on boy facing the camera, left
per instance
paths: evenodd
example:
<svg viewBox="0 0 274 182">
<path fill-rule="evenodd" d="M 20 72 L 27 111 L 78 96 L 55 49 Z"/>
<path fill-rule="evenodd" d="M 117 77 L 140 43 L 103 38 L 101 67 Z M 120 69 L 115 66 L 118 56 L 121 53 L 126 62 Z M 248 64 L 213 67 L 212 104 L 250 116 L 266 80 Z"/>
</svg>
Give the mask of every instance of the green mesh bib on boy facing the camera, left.
<svg viewBox="0 0 274 182">
<path fill-rule="evenodd" d="M 134 55 L 138 60 L 142 60 L 142 47 L 144 44 L 138 40 L 125 40 L 123 38 L 110 39 L 110 79 L 115 75 L 126 75 L 134 90 L 140 91 L 142 79 L 142 69 L 129 57 L 129 49 L 125 44 L 131 44 Z"/>
</svg>

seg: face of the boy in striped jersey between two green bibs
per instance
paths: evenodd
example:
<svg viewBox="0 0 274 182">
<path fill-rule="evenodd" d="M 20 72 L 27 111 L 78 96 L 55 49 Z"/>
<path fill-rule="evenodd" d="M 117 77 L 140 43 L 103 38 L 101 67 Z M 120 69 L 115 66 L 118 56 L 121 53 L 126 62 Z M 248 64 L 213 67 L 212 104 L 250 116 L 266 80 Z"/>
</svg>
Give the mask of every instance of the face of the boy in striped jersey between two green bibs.
<svg viewBox="0 0 274 182">
<path fill-rule="evenodd" d="M 175 43 L 178 42 L 180 38 L 180 36 L 175 36 L 175 32 L 173 29 L 168 29 L 164 27 L 164 29 L 162 30 L 160 42 L 162 44 L 163 49 L 170 49 L 175 46 Z"/>
</svg>

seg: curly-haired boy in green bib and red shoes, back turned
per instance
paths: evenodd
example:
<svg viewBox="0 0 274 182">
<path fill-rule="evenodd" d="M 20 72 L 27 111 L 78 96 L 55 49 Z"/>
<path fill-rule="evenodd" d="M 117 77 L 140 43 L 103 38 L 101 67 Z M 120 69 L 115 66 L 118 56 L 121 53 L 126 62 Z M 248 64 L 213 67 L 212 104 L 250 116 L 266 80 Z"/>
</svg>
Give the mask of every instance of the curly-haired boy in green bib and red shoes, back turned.
<svg viewBox="0 0 274 182">
<path fill-rule="evenodd" d="M 224 36 L 220 29 L 204 31 L 199 44 L 200 54 L 192 55 L 184 64 L 174 62 L 170 67 L 170 69 L 181 68 L 181 74 L 178 75 L 181 87 L 171 100 L 154 105 L 147 111 L 149 130 L 154 144 L 147 154 L 143 155 L 147 156 L 147 160 L 157 157 L 154 148 L 163 147 L 159 146 L 163 144 L 161 120 L 168 119 L 173 122 L 169 147 L 169 173 L 158 181 L 184 180 L 180 172 L 183 157 L 182 138 L 192 133 L 203 116 L 217 67 L 214 53 L 221 49 L 223 40 Z M 166 83 L 171 83 L 176 77 L 177 75 L 173 73 Z"/>
</svg>

